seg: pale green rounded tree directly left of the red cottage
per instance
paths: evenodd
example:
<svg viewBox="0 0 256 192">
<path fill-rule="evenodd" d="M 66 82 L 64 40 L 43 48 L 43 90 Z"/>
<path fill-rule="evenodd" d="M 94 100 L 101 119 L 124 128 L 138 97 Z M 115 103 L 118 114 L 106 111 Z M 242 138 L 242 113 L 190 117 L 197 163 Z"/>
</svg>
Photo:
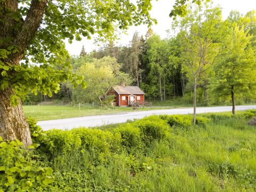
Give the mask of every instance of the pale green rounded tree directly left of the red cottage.
<svg viewBox="0 0 256 192">
<path fill-rule="evenodd" d="M 76 71 L 82 75 L 87 82 L 87 89 L 78 86 L 73 90 L 73 101 L 88 103 L 102 102 L 101 97 L 111 85 L 119 85 L 121 82 L 126 82 L 127 85 L 131 82 L 128 74 L 120 71 L 122 65 L 117 63 L 115 58 L 103 57 L 102 59 L 93 59 L 93 62 L 82 63 Z"/>
</svg>

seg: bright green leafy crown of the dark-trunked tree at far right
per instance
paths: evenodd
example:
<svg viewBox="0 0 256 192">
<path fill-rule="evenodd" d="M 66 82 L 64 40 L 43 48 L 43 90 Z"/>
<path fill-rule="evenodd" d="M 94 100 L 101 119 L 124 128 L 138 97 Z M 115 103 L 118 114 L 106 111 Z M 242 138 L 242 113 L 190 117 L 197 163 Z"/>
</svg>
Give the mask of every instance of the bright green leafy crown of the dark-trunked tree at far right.
<svg viewBox="0 0 256 192">
<path fill-rule="evenodd" d="M 233 23 L 223 38 L 222 55 L 213 66 L 215 73 L 211 79 L 212 102 L 234 102 L 255 99 L 255 63 L 254 50 L 250 46 L 251 38 L 243 27 Z M 239 98 L 239 99 L 238 99 Z"/>
</svg>

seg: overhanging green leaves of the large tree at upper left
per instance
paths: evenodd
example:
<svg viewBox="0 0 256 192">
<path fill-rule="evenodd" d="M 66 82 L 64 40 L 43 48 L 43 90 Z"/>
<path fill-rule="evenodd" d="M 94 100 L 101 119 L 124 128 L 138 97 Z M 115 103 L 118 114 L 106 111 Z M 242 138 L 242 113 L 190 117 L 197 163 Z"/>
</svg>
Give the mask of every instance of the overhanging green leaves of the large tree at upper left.
<svg viewBox="0 0 256 192">
<path fill-rule="evenodd" d="M 57 4 L 45 1 L 35 6 L 30 1 L 15 2 L 15 10 L 5 4 L 0 10 L 0 15 L 3 15 L 1 25 L 13 29 L 11 36 L 1 31 L 0 89 L 3 91 L 11 85 L 13 105 L 18 104 L 19 98 L 25 99 L 29 92 L 37 94 L 41 91 L 51 97 L 52 91 L 58 92 L 59 84 L 66 80 L 75 87 L 78 84 L 86 86 L 82 77 L 71 72 L 70 57 L 63 40 L 68 39 L 71 43 L 74 39 L 81 41 L 81 36 L 91 39 L 91 35 L 98 34 L 98 40 L 111 41 L 116 38 L 117 28 L 126 30 L 133 24 L 150 26 L 156 22 L 149 14 L 150 1 L 132 3 L 122 0 L 96 4 L 77 0 L 59 1 Z M 38 11 L 36 17 L 29 14 L 34 11 Z M 22 19 L 28 15 L 31 23 L 39 21 L 35 29 Z M 22 59 L 25 62 L 19 65 Z M 29 62 L 37 66 L 29 65 Z"/>
</svg>

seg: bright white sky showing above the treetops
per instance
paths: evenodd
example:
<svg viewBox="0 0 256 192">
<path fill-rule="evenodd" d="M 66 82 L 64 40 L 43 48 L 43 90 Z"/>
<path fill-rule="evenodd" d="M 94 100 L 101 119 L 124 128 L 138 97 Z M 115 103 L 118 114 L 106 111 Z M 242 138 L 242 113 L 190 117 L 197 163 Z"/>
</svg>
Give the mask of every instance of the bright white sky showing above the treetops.
<svg viewBox="0 0 256 192">
<path fill-rule="evenodd" d="M 166 30 L 171 28 L 172 19 L 169 17 L 169 13 L 172 9 L 174 0 L 153 0 L 153 8 L 150 11 L 151 17 L 157 19 L 157 25 L 152 26 L 154 33 L 160 35 L 162 38 L 167 36 Z M 220 5 L 222 7 L 223 19 L 226 19 L 231 10 L 238 10 L 240 13 L 245 14 L 248 11 L 256 10 L 256 0 L 213 0 L 214 5 Z M 147 33 L 147 26 L 132 26 L 126 34 L 120 36 L 118 44 L 127 45 L 132 39 L 135 31 L 139 31 L 140 35 Z M 71 55 L 78 55 L 85 46 L 86 52 L 91 52 L 94 49 L 98 49 L 99 46 L 94 45 L 93 40 L 87 40 L 83 38 L 82 41 L 74 41 L 72 44 L 66 42 L 67 50 Z M 103 44 L 102 44 L 103 45 Z"/>
</svg>

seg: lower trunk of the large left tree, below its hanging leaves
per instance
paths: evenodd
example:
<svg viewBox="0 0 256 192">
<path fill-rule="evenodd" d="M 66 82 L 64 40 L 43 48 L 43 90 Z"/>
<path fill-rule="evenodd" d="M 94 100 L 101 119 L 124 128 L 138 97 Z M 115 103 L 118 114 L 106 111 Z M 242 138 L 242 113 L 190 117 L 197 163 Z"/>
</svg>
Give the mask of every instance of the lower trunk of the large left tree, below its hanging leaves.
<svg viewBox="0 0 256 192">
<path fill-rule="evenodd" d="M 4 140 L 19 139 L 25 146 L 31 145 L 29 126 L 21 102 L 15 107 L 10 105 L 11 88 L 0 91 L 0 136 Z"/>
</svg>

